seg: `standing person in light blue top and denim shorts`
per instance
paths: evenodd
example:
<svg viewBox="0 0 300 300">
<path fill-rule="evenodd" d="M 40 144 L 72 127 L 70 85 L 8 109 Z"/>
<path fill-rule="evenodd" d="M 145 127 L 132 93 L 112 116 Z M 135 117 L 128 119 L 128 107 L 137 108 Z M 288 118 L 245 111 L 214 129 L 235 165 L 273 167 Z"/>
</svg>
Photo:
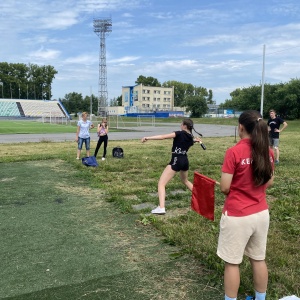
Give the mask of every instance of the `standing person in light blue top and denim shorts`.
<svg viewBox="0 0 300 300">
<path fill-rule="evenodd" d="M 83 143 L 85 143 L 86 156 L 90 156 L 90 145 L 91 145 L 90 129 L 94 128 L 94 125 L 87 118 L 88 118 L 88 113 L 83 112 L 81 114 L 81 120 L 79 120 L 77 123 L 77 132 L 76 132 L 75 141 L 78 143 L 78 148 L 77 148 L 76 159 L 80 159 Z"/>
</svg>

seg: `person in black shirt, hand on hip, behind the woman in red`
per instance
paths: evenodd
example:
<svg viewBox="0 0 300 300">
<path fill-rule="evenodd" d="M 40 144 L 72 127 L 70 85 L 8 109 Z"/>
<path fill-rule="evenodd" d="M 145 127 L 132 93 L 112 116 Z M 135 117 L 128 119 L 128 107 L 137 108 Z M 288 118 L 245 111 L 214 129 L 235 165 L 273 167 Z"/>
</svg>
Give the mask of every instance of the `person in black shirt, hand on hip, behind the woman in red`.
<svg viewBox="0 0 300 300">
<path fill-rule="evenodd" d="M 269 113 L 270 119 L 268 121 L 268 128 L 270 145 L 275 151 L 275 164 L 279 164 L 279 133 L 282 132 L 282 130 L 284 130 L 288 124 L 283 119 L 276 116 L 276 111 L 274 109 L 271 109 Z M 281 124 L 283 127 L 279 129 Z"/>
</svg>

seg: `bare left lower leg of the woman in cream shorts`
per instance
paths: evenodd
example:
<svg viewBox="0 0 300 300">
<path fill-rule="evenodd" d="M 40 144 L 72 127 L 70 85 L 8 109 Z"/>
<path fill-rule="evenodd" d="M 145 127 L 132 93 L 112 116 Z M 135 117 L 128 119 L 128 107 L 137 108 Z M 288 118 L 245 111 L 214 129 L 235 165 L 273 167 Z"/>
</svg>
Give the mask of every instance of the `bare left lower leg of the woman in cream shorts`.
<svg viewBox="0 0 300 300">
<path fill-rule="evenodd" d="M 225 271 L 224 271 L 225 295 L 230 298 L 237 298 L 239 286 L 240 286 L 239 265 L 225 263 Z"/>
</svg>

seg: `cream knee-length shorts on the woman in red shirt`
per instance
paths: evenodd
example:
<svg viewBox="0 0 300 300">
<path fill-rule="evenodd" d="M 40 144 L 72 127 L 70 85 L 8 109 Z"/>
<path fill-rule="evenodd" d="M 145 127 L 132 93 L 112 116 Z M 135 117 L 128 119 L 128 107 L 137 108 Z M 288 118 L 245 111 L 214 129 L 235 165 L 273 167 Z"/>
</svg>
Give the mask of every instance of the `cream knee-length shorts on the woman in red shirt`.
<svg viewBox="0 0 300 300">
<path fill-rule="evenodd" d="M 230 264 L 240 264 L 244 254 L 264 260 L 269 221 L 269 210 L 245 217 L 222 214 L 217 255 Z"/>
</svg>

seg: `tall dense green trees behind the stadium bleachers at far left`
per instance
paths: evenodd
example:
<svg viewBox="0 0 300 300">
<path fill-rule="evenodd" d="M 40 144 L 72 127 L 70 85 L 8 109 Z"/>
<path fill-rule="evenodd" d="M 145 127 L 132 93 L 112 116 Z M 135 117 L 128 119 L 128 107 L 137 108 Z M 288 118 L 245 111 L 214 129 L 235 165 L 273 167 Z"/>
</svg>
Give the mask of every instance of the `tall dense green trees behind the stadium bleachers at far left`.
<svg viewBox="0 0 300 300">
<path fill-rule="evenodd" d="M 52 66 L 0 62 L 0 95 L 11 99 L 51 99 L 57 71 Z"/>
</svg>

